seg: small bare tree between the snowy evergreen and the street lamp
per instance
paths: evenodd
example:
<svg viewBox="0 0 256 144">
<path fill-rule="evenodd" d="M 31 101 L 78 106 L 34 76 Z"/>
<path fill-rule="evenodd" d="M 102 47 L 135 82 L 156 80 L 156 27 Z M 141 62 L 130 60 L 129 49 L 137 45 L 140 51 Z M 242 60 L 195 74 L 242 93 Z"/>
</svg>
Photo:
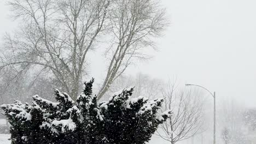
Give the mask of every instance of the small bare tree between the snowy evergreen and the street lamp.
<svg viewBox="0 0 256 144">
<path fill-rule="evenodd" d="M 202 103 L 199 94 L 185 90 L 177 92 L 176 81 L 173 81 L 168 82 L 162 95 L 166 98 L 165 109 L 172 110 L 173 115 L 161 125 L 157 135 L 174 144 L 200 133 Z"/>
</svg>

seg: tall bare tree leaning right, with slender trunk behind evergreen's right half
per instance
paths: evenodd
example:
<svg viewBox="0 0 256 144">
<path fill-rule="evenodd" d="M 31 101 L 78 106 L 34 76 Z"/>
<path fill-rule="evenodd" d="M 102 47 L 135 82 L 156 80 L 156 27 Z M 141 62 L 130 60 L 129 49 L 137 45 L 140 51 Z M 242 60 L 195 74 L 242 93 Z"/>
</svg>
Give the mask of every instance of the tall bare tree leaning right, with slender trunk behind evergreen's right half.
<svg viewBox="0 0 256 144">
<path fill-rule="evenodd" d="M 147 58 L 142 49 L 154 47 L 151 38 L 160 35 L 167 26 L 165 10 L 155 1 L 118 0 L 114 7 L 110 16 L 114 43 L 107 50 L 109 65 L 99 98 L 124 73 L 133 58 Z"/>
</svg>

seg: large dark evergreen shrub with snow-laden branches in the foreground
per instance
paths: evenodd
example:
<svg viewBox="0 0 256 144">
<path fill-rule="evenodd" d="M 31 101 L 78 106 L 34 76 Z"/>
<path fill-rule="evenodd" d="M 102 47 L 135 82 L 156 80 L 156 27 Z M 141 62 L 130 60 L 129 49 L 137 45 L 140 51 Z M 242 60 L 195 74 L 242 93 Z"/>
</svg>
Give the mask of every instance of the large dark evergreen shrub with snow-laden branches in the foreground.
<svg viewBox="0 0 256 144">
<path fill-rule="evenodd" d="M 2 105 L 13 143 L 145 143 L 171 111 L 158 114 L 164 99 L 130 98 L 126 88 L 108 101 L 92 95 L 94 79 L 85 82 L 76 102 L 55 89 L 57 103 L 33 96 L 33 104 Z"/>
</svg>

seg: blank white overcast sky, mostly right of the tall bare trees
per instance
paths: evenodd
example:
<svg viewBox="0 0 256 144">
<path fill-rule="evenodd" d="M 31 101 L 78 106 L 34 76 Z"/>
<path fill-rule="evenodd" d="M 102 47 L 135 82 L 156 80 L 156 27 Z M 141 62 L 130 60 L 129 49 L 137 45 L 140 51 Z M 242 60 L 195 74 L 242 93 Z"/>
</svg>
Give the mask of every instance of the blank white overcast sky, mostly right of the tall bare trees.
<svg viewBox="0 0 256 144">
<path fill-rule="evenodd" d="M 256 1 L 164 0 L 171 26 L 159 40 L 152 61 L 127 73 L 143 71 L 160 79 L 178 76 L 181 85 L 194 83 L 256 106 Z M 15 22 L 0 2 L 0 34 Z M 92 65 L 97 72 L 99 65 Z"/>
</svg>

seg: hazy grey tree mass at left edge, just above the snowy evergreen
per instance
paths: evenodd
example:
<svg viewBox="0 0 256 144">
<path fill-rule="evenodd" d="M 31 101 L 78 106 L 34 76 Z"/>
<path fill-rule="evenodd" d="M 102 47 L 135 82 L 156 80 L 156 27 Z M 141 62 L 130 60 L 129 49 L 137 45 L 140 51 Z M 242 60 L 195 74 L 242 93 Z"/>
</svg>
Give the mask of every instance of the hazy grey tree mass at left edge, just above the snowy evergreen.
<svg viewBox="0 0 256 144">
<path fill-rule="evenodd" d="M 44 75 L 45 76 L 45 75 Z M 0 71 L 0 103 L 13 103 L 15 99 L 31 101 L 31 95 L 44 95 L 53 100 L 53 92 L 48 89 L 57 87 L 57 81 L 50 77 L 37 76 L 31 73 L 19 75 L 14 70 Z"/>
</svg>

